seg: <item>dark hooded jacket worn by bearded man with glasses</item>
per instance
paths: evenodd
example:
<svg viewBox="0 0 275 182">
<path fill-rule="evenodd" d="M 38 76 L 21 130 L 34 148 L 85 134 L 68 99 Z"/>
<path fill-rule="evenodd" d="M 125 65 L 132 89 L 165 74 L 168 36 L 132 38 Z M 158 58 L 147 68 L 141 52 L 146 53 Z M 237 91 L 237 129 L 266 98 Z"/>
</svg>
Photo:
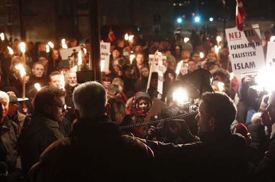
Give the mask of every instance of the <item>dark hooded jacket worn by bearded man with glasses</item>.
<svg viewBox="0 0 275 182">
<path fill-rule="evenodd" d="M 31 166 L 39 160 L 45 149 L 58 139 L 63 139 L 57 121 L 50 120 L 43 115 L 34 114 L 27 128 L 20 135 L 20 152 L 24 176 Z"/>
</svg>

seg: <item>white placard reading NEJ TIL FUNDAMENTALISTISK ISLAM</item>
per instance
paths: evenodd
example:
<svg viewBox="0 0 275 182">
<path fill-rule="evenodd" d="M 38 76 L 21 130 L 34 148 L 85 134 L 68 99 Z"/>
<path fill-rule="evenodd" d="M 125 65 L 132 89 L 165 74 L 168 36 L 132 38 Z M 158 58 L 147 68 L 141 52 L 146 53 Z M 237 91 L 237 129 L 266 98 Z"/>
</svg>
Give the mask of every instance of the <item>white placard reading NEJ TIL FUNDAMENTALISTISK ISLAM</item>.
<svg viewBox="0 0 275 182">
<path fill-rule="evenodd" d="M 234 75 L 256 72 L 265 68 L 259 25 L 225 29 Z"/>
</svg>

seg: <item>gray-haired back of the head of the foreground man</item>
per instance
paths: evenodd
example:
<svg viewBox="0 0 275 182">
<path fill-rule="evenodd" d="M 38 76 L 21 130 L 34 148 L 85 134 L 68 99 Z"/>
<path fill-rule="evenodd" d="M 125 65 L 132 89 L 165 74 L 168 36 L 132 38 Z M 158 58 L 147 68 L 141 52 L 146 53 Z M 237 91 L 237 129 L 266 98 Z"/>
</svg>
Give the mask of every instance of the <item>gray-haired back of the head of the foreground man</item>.
<svg viewBox="0 0 275 182">
<path fill-rule="evenodd" d="M 106 113 L 107 92 L 98 82 L 85 82 L 75 88 L 73 101 L 80 118 Z"/>
</svg>

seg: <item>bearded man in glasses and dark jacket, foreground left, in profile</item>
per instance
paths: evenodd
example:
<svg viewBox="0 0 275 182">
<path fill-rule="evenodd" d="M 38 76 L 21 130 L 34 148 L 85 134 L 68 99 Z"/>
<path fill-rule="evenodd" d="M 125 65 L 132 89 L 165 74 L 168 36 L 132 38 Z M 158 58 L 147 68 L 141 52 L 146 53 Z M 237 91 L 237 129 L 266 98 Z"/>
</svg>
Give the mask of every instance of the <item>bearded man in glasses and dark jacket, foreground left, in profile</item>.
<svg viewBox="0 0 275 182">
<path fill-rule="evenodd" d="M 24 178 L 44 150 L 58 139 L 63 139 L 58 122 L 63 120 L 65 92 L 53 86 L 42 87 L 32 101 L 34 114 L 27 126 L 23 124 L 19 148 Z M 26 122 L 26 121 L 25 121 Z"/>
</svg>

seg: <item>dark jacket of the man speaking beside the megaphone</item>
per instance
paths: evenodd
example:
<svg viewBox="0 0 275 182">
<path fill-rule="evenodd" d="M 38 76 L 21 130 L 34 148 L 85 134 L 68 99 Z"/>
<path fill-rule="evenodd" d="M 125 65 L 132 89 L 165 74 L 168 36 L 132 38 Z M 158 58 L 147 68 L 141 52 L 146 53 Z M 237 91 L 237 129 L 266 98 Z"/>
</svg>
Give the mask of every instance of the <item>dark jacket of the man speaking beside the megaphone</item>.
<svg viewBox="0 0 275 182">
<path fill-rule="evenodd" d="M 158 181 L 246 182 L 247 144 L 228 131 L 200 133 L 201 142 L 185 145 L 145 141 L 155 153 Z"/>
</svg>

